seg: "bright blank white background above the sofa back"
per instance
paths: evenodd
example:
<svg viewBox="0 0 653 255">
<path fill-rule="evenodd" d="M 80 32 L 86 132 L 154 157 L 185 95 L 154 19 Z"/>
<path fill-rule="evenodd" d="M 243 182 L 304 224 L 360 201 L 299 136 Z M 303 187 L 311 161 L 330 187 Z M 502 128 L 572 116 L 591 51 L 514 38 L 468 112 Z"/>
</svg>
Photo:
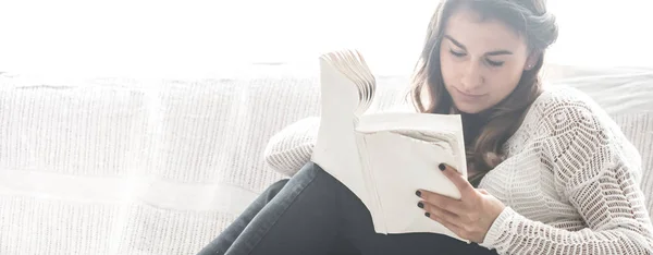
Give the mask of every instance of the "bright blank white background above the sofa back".
<svg viewBox="0 0 653 255">
<path fill-rule="evenodd" d="M 375 73 L 407 73 L 438 0 L 0 1 L 0 71 L 219 76 L 311 63 L 357 47 Z M 549 61 L 653 65 L 649 0 L 550 0 Z"/>
</svg>

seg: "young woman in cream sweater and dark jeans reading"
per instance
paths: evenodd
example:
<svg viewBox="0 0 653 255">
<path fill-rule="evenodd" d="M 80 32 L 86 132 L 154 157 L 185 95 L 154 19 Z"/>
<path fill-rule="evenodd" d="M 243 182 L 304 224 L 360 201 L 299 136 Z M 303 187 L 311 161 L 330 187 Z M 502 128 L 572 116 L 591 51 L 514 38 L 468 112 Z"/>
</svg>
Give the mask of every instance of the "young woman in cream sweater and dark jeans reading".
<svg viewBox="0 0 653 255">
<path fill-rule="evenodd" d="M 541 85 L 556 37 L 544 0 L 443 0 L 429 25 L 412 99 L 463 116 L 469 179 L 433 166 L 463 197 L 418 190 L 415 206 L 472 244 L 377 234 L 362 203 L 308 163 L 200 254 L 653 254 L 638 151 L 590 98 Z"/>
</svg>

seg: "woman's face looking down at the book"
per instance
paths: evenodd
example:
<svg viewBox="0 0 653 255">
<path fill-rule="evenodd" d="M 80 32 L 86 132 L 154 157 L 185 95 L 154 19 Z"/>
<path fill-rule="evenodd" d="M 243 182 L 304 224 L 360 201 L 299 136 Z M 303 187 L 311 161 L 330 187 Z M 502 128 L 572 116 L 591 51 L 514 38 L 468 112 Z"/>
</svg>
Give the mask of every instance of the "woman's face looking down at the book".
<svg viewBox="0 0 653 255">
<path fill-rule="evenodd" d="M 440 60 L 456 108 L 478 113 L 506 98 L 537 59 L 529 58 L 526 40 L 510 27 L 460 9 L 447 22 Z"/>
</svg>

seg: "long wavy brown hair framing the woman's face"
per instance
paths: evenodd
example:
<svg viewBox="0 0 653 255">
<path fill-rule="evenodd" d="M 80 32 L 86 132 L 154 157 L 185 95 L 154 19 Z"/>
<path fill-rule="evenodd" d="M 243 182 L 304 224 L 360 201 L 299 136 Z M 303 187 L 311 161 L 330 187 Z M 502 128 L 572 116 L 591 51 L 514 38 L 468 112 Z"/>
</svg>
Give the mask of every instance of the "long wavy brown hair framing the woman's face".
<svg viewBox="0 0 653 255">
<path fill-rule="evenodd" d="M 545 0 L 442 0 L 429 23 L 411 81 L 410 96 L 420 112 L 458 113 L 442 78 L 440 47 L 447 20 L 460 8 L 475 11 L 481 20 L 503 22 L 519 33 L 529 51 L 538 57 L 533 68 L 523 71 L 519 84 L 504 100 L 481 113 L 463 114 L 467 161 L 482 178 L 503 161 L 503 144 L 517 131 L 528 107 L 541 94 L 544 51 L 557 39 L 558 28 L 555 16 L 546 11 Z M 477 126 L 476 130 L 470 125 Z"/>
</svg>

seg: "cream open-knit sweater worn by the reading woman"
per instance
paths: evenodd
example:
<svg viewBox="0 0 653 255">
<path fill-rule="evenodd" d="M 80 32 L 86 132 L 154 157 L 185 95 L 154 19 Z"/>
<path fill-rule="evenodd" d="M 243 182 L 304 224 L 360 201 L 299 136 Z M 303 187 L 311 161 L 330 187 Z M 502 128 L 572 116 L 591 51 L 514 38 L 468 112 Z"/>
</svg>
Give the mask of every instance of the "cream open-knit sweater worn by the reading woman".
<svg viewBox="0 0 653 255">
<path fill-rule="evenodd" d="M 481 244 L 500 254 L 650 254 L 637 149 L 589 97 L 544 93 L 480 187 L 508 206 Z"/>
</svg>

